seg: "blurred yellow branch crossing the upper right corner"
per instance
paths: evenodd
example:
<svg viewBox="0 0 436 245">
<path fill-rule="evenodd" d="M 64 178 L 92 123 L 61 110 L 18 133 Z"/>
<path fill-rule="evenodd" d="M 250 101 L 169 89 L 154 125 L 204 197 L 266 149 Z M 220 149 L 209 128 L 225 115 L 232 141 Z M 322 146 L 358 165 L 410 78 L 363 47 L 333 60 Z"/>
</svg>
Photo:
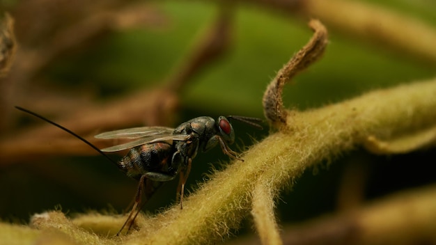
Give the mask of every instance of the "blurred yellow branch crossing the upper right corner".
<svg viewBox="0 0 436 245">
<path fill-rule="evenodd" d="M 222 0 L 221 0 L 222 1 Z M 320 19 L 330 30 L 370 40 L 429 65 L 436 64 L 436 29 L 419 19 L 395 13 L 368 1 L 241 0 L 304 18 Z M 224 1 L 226 2 L 226 1 Z"/>
</svg>

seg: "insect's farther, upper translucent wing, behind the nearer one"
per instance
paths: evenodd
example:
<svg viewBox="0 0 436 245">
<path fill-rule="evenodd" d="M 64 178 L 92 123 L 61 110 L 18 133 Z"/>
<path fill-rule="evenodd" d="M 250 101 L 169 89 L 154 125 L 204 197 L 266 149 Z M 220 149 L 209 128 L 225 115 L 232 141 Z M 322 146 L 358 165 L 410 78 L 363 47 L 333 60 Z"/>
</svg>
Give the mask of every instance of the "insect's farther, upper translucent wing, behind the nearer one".
<svg viewBox="0 0 436 245">
<path fill-rule="evenodd" d="M 171 127 L 131 127 L 128 129 L 119 129 L 109 132 L 103 132 L 94 136 L 97 139 L 137 139 L 141 137 L 166 136 L 174 131 Z"/>
</svg>

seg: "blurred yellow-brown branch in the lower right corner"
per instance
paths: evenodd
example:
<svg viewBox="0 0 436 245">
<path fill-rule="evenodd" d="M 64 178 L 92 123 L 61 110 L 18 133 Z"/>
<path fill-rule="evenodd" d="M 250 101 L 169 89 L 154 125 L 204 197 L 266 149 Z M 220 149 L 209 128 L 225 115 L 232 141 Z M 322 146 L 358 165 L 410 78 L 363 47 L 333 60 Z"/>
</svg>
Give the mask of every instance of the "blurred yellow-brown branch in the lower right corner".
<svg viewBox="0 0 436 245">
<path fill-rule="evenodd" d="M 351 212 L 283 228 L 284 244 L 434 244 L 436 186 L 412 189 L 376 200 Z M 257 237 L 228 245 L 260 244 Z"/>
</svg>

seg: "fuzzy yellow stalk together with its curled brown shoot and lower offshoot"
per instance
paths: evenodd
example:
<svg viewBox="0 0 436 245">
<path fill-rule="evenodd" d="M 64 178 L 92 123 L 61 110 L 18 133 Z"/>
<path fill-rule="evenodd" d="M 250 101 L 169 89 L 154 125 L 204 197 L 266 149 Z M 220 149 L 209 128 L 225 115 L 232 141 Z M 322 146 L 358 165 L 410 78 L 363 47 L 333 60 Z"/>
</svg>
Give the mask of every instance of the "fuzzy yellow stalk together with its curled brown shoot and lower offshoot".
<svg viewBox="0 0 436 245">
<path fill-rule="evenodd" d="M 371 142 L 395 144 L 407 137 L 415 138 L 404 147 L 408 151 L 435 142 L 432 129 L 436 125 L 436 79 L 376 90 L 310 111 L 284 109 L 279 99 L 281 87 L 316 61 L 327 43 L 327 32 L 322 24 L 313 21 L 311 27 L 315 34 L 308 45 L 268 86 L 279 92 L 273 90 L 272 97 L 264 97 L 264 104 L 266 101 L 274 105 L 273 110 L 279 109 L 265 110 L 266 115 L 278 118 L 274 121 L 267 116 L 279 130 L 247 150 L 243 155 L 244 163 L 235 161 L 225 171 L 215 173 L 210 182 L 187 198 L 183 210 L 175 206 L 157 216 L 141 217 L 141 230 L 123 237 L 123 242 L 217 242 L 238 228 L 240 221 L 251 212 L 261 239 L 280 244 L 274 220 L 275 197 L 281 189 L 292 186 L 307 168 L 332 161 L 343 152 Z"/>
</svg>

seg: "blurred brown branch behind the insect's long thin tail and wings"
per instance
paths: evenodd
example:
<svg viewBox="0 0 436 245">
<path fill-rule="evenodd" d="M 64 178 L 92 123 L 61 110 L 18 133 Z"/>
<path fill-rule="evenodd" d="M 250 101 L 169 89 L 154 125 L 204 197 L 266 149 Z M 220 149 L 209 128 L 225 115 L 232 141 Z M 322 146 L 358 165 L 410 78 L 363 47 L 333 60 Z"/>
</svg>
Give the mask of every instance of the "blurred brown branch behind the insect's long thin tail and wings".
<svg viewBox="0 0 436 245">
<path fill-rule="evenodd" d="M 56 122 L 103 148 L 114 142 L 93 139 L 93 135 L 98 132 L 141 122 L 145 125 L 168 125 L 173 121 L 177 108 L 177 95 L 168 90 L 155 89 L 128 95 L 104 106 L 95 105 L 80 109 L 68 113 L 67 118 Z M 96 155 L 97 152 L 61 129 L 48 124 L 21 134 L 13 134 L 0 142 L 1 164 L 22 161 L 32 156 L 65 154 Z"/>
</svg>

